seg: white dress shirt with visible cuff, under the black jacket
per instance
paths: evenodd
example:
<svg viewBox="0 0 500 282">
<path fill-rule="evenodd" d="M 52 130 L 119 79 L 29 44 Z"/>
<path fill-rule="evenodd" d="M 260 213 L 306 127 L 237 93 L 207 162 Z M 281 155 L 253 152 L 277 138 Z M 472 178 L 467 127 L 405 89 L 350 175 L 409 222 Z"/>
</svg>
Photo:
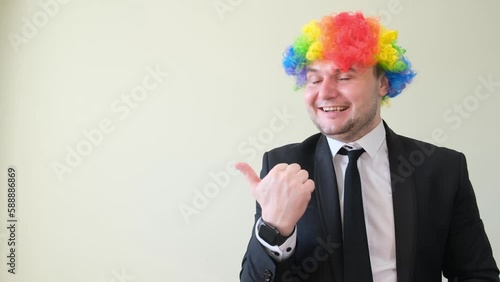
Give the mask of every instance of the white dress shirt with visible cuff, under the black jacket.
<svg viewBox="0 0 500 282">
<path fill-rule="evenodd" d="M 372 131 L 352 143 L 345 144 L 331 138 L 327 138 L 327 140 L 337 177 L 342 220 L 344 215 L 344 175 L 349 159 L 347 155 L 340 155 L 337 152 L 341 147 L 348 150 L 363 148 L 366 151 L 358 160 L 358 169 L 361 178 L 373 282 L 396 282 L 394 211 L 384 125 L 381 121 Z M 257 239 L 276 261 L 285 260 L 293 254 L 297 242 L 297 227 L 292 236 L 281 246 L 270 246 L 258 236 L 257 231 L 256 229 Z"/>
</svg>

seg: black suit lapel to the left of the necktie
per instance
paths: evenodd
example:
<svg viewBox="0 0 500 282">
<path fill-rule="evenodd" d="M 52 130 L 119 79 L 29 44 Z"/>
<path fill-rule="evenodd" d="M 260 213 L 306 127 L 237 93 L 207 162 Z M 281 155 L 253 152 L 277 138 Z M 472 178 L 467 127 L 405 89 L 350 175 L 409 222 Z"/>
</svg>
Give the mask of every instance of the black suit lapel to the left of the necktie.
<svg viewBox="0 0 500 282">
<path fill-rule="evenodd" d="M 342 222 L 340 219 L 339 194 L 337 179 L 333 167 L 332 153 L 326 137 L 322 135 L 316 147 L 314 159 L 314 183 L 319 217 L 323 226 L 325 238 L 331 236 L 332 242 L 339 247 L 332 253 L 332 264 L 335 282 L 344 281 Z"/>
</svg>

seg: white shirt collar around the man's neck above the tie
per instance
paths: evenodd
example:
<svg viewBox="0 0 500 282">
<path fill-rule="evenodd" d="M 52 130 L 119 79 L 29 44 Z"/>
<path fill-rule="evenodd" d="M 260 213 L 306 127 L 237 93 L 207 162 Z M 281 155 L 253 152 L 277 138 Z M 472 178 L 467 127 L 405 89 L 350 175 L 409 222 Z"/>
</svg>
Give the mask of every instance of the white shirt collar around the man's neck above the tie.
<svg viewBox="0 0 500 282">
<path fill-rule="evenodd" d="M 382 121 L 372 129 L 372 131 L 368 132 L 365 136 L 360 139 L 350 142 L 344 143 L 335 139 L 332 139 L 327 136 L 328 146 L 330 147 L 330 151 L 332 155 L 335 156 L 341 147 L 347 145 L 353 147 L 355 149 L 365 149 L 366 153 L 370 155 L 370 157 L 375 157 L 375 154 L 382 146 L 382 143 L 385 140 L 385 127 Z"/>
</svg>

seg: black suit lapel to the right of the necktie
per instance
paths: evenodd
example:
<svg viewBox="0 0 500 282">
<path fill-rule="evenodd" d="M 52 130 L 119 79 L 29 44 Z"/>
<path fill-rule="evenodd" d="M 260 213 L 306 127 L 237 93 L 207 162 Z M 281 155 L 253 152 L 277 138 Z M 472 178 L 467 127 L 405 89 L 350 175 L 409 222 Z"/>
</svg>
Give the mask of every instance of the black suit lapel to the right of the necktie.
<svg viewBox="0 0 500 282">
<path fill-rule="evenodd" d="M 404 166 L 402 160 L 407 160 L 410 152 L 403 148 L 400 138 L 385 122 L 384 126 L 391 170 L 398 282 L 410 282 L 414 271 L 417 234 L 415 182 L 412 173 L 401 170 Z"/>
</svg>

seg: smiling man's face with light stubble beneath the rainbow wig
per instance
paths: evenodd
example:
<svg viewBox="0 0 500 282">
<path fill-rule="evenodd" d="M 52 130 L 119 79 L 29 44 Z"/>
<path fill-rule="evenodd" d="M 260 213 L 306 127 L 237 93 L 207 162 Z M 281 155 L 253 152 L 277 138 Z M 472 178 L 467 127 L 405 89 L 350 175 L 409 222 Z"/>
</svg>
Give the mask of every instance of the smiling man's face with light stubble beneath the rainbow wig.
<svg viewBox="0 0 500 282">
<path fill-rule="evenodd" d="M 308 66 L 304 100 L 309 116 L 323 134 L 352 142 L 378 125 L 388 82 L 384 75 L 377 77 L 374 68 L 353 66 L 341 72 L 326 61 Z"/>
</svg>

